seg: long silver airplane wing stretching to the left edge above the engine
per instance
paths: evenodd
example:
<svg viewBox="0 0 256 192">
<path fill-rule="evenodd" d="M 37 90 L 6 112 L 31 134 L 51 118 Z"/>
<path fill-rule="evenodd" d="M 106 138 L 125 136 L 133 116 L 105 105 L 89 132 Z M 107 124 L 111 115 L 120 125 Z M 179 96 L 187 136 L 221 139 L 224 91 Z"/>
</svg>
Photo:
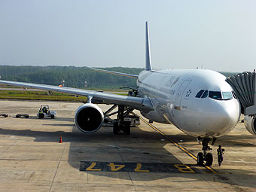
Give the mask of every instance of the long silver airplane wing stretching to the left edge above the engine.
<svg viewBox="0 0 256 192">
<path fill-rule="evenodd" d="M 70 87 L 59 87 L 59 86 L 46 85 L 46 84 L 31 84 L 31 83 L 23 83 L 23 82 L 16 82 L 16 81 L 0 80 L 0 84 L 29 87 L 29 88 L 39 89 L 39 90 L 49 90 L 49 91 L 60 92 L 60 93 L 69 93 L 69 94 L 74 94 L 78 96 L 87 96 L 93 99 L 102 100 L 103 102 L 110 103 L 110 104 L 113 103 L 117 105 L 129 106 L 130 108 L 135 108 L 135 109 L 138 109 L 139 111 L 144 111 L 144 112 L 153 110 L 151 99 L 146 97 L 142 98 L 142 97 L 134 97 L 134 96 L 120 96 L 120 95 L 103 93 L 103 92 L 94 91 L 94 90 L 81 90 L 81 89 L 75 89 Z"/>
</svg>

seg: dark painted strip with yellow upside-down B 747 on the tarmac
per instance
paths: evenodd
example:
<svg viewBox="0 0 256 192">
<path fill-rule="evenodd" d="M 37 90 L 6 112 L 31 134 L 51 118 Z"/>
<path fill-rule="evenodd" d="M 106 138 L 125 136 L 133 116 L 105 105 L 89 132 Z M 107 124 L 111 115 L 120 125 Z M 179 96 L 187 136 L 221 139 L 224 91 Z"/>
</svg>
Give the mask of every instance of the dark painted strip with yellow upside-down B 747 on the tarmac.
<svg viewBox="0 0 256 192">
<path fill-rule="evenodd" d="M 193 165 L 174 163 L 120 163 L 81 161 L 80 171 L 88 172 L 176 172 L 195 173 Z"/>
</svg>

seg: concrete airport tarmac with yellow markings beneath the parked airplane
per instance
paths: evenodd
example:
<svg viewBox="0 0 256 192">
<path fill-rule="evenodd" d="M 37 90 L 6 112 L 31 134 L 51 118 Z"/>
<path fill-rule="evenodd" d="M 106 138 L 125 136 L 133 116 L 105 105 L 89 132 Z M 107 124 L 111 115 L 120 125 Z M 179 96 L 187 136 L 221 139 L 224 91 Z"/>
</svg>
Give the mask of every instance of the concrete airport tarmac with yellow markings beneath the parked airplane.
<svg viewBox="0 0 256 192">
<path fill-rule="evenodd" d="M 56 119 L 36 117 L 43 104 Z M 143 121 L 130 136 L 111 126 L 81 133 L 74 123 L 80 105 L 0 100 L 0 114 L 11 115 L 0 117 L 0 191 L 256 191 L 256 136 L 243 123 L 217 139 L 207 168 L 193 157 L 202 146 L 172 125 L 153 123 L 163 135 Z"/>
</svg>

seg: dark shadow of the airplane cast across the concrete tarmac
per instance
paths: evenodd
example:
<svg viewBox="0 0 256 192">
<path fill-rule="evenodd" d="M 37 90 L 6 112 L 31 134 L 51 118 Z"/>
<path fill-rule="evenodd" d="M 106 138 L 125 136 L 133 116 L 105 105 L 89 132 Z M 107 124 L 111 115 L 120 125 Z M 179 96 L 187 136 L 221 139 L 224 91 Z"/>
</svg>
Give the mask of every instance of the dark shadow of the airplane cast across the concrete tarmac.
<svg viewBox="0 0 256 192">
<path fill-rule="evenodd" d="M 66 121 L 70 121 L 69 118 Z M 49 122 L 44 125 L 54 126 L 54 124 L 50 124 Z M 67 126 L 67 124 L 60 123 L 58 126 Z M 35 137 L 35 142 L 56 142 L 59 136 L 62 135 L 63 142 L 70 142 L 68 161 L 75 169 L 80 169 L 81 161 L 95 163 L 142 163 L 142 165 L 143 163 L 155 163 L 156 165 L 157 163 L 182 164 L 170 151 L 166 151 L 164 146 L 169 142 L 162 142 L 160 140 L 163 138 L 162 136 L 158 133 L 142 131 L 138 128 L 132 128 L 130 136 L 122 133 L 116 136 L 112 133 L 112 127 L 110 126 L 102 127 L 97 133 L 85 134 L 81 133 L 75 125 L 72 128 L 72 133 L 64 131 L 4 130 L 0 128 L 0 134 L 8 136 L 32 136 Z M 237 140 L 245 138 L 243 135 L 224 137 L 230 141 L 227 145 L 233 145 L 234 143 L 239 145 Z M 185 139 L 186 142 L 194 142 L 194 138 L 182 134 L 175 136 L 169 135 L 169 138 L 175 141 Z M 251 145 L 248 146 L 251 147 Z M 193 166 L 196 166 L 196 161 Z M 256 187 L 256 184 L 254 184 L 256 175 L 254 173 L 249 170 L 237 169 L 218 169 L 218 174 L 204 173 L 201 176 L 198 176 L 197 172 L 133 172 L 133 174 L 139 174 L 137 176 L 133 175 L 133 180 L 152 181 L 161 178 L 173 178 L 175 182 L 175 177 L 179 177 L 177 182 L 202 181 L 204 179 L 206 181 L 220 182 L 236 187 Z M 89 174 L 102 175 L 102 172 L 89 172 Z M 105 172 L 104 176 L 127 179 L 125 175 L 120 175 L 116 172 Z M 249 181 L 246 181 L 245 178 Z"/>
</svg>

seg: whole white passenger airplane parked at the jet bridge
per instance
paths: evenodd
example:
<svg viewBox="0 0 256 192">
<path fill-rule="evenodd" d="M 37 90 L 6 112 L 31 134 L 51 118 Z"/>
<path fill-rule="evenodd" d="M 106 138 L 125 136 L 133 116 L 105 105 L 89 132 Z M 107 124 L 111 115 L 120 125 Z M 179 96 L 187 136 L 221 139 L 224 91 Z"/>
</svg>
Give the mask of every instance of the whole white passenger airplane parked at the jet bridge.
<svg viewBox="0 0 256 192">
<path fill-rule="evenodd" d="M 96 69 L 101 72 L 110 72 Z M 227 83 L 226 77 L 211 70 L 175 70 L 166 69 L 153 71 L 151 68 L 151 53 L 148 36 L 148 22 L 146 22 L 146 65 L 145 71 L 139 75 L 120 72 L 110 72 L 137 78 L 138 90 L 136 96 L 119 96 L 111 93 L 101 93 L 93 90 L 81 90 L 69 87 L 58 87 L 44 84 L 29 84 L 14 81 L 0 81 L 0 84 L 31 87 L 41 90 L 71 93 L 87 96 L 87 103 L 81 105 L 75 113 L 75 123 L 84 133 L 94 133 L 102 126 L 104 114 L 95 100 L 118 105 L 117 121 L 113 132 L 123 130 L 130 134 L 130 124 L 123 120 L 133 109 L 150 121 L 172 123 L 179 130 L 202 141 L 203 153 L 198 153 L 197 163 L 203 166 L 212 165 L 212 154 L 207 153 L 216 138 L 229 133 L 239 121 L 241 108 L 239 100 Z M 246 124 L 245 124 L 246 125 Z M 246 128 L 253 132 L 254 125 L 247 123 Z"/>
</svg>

